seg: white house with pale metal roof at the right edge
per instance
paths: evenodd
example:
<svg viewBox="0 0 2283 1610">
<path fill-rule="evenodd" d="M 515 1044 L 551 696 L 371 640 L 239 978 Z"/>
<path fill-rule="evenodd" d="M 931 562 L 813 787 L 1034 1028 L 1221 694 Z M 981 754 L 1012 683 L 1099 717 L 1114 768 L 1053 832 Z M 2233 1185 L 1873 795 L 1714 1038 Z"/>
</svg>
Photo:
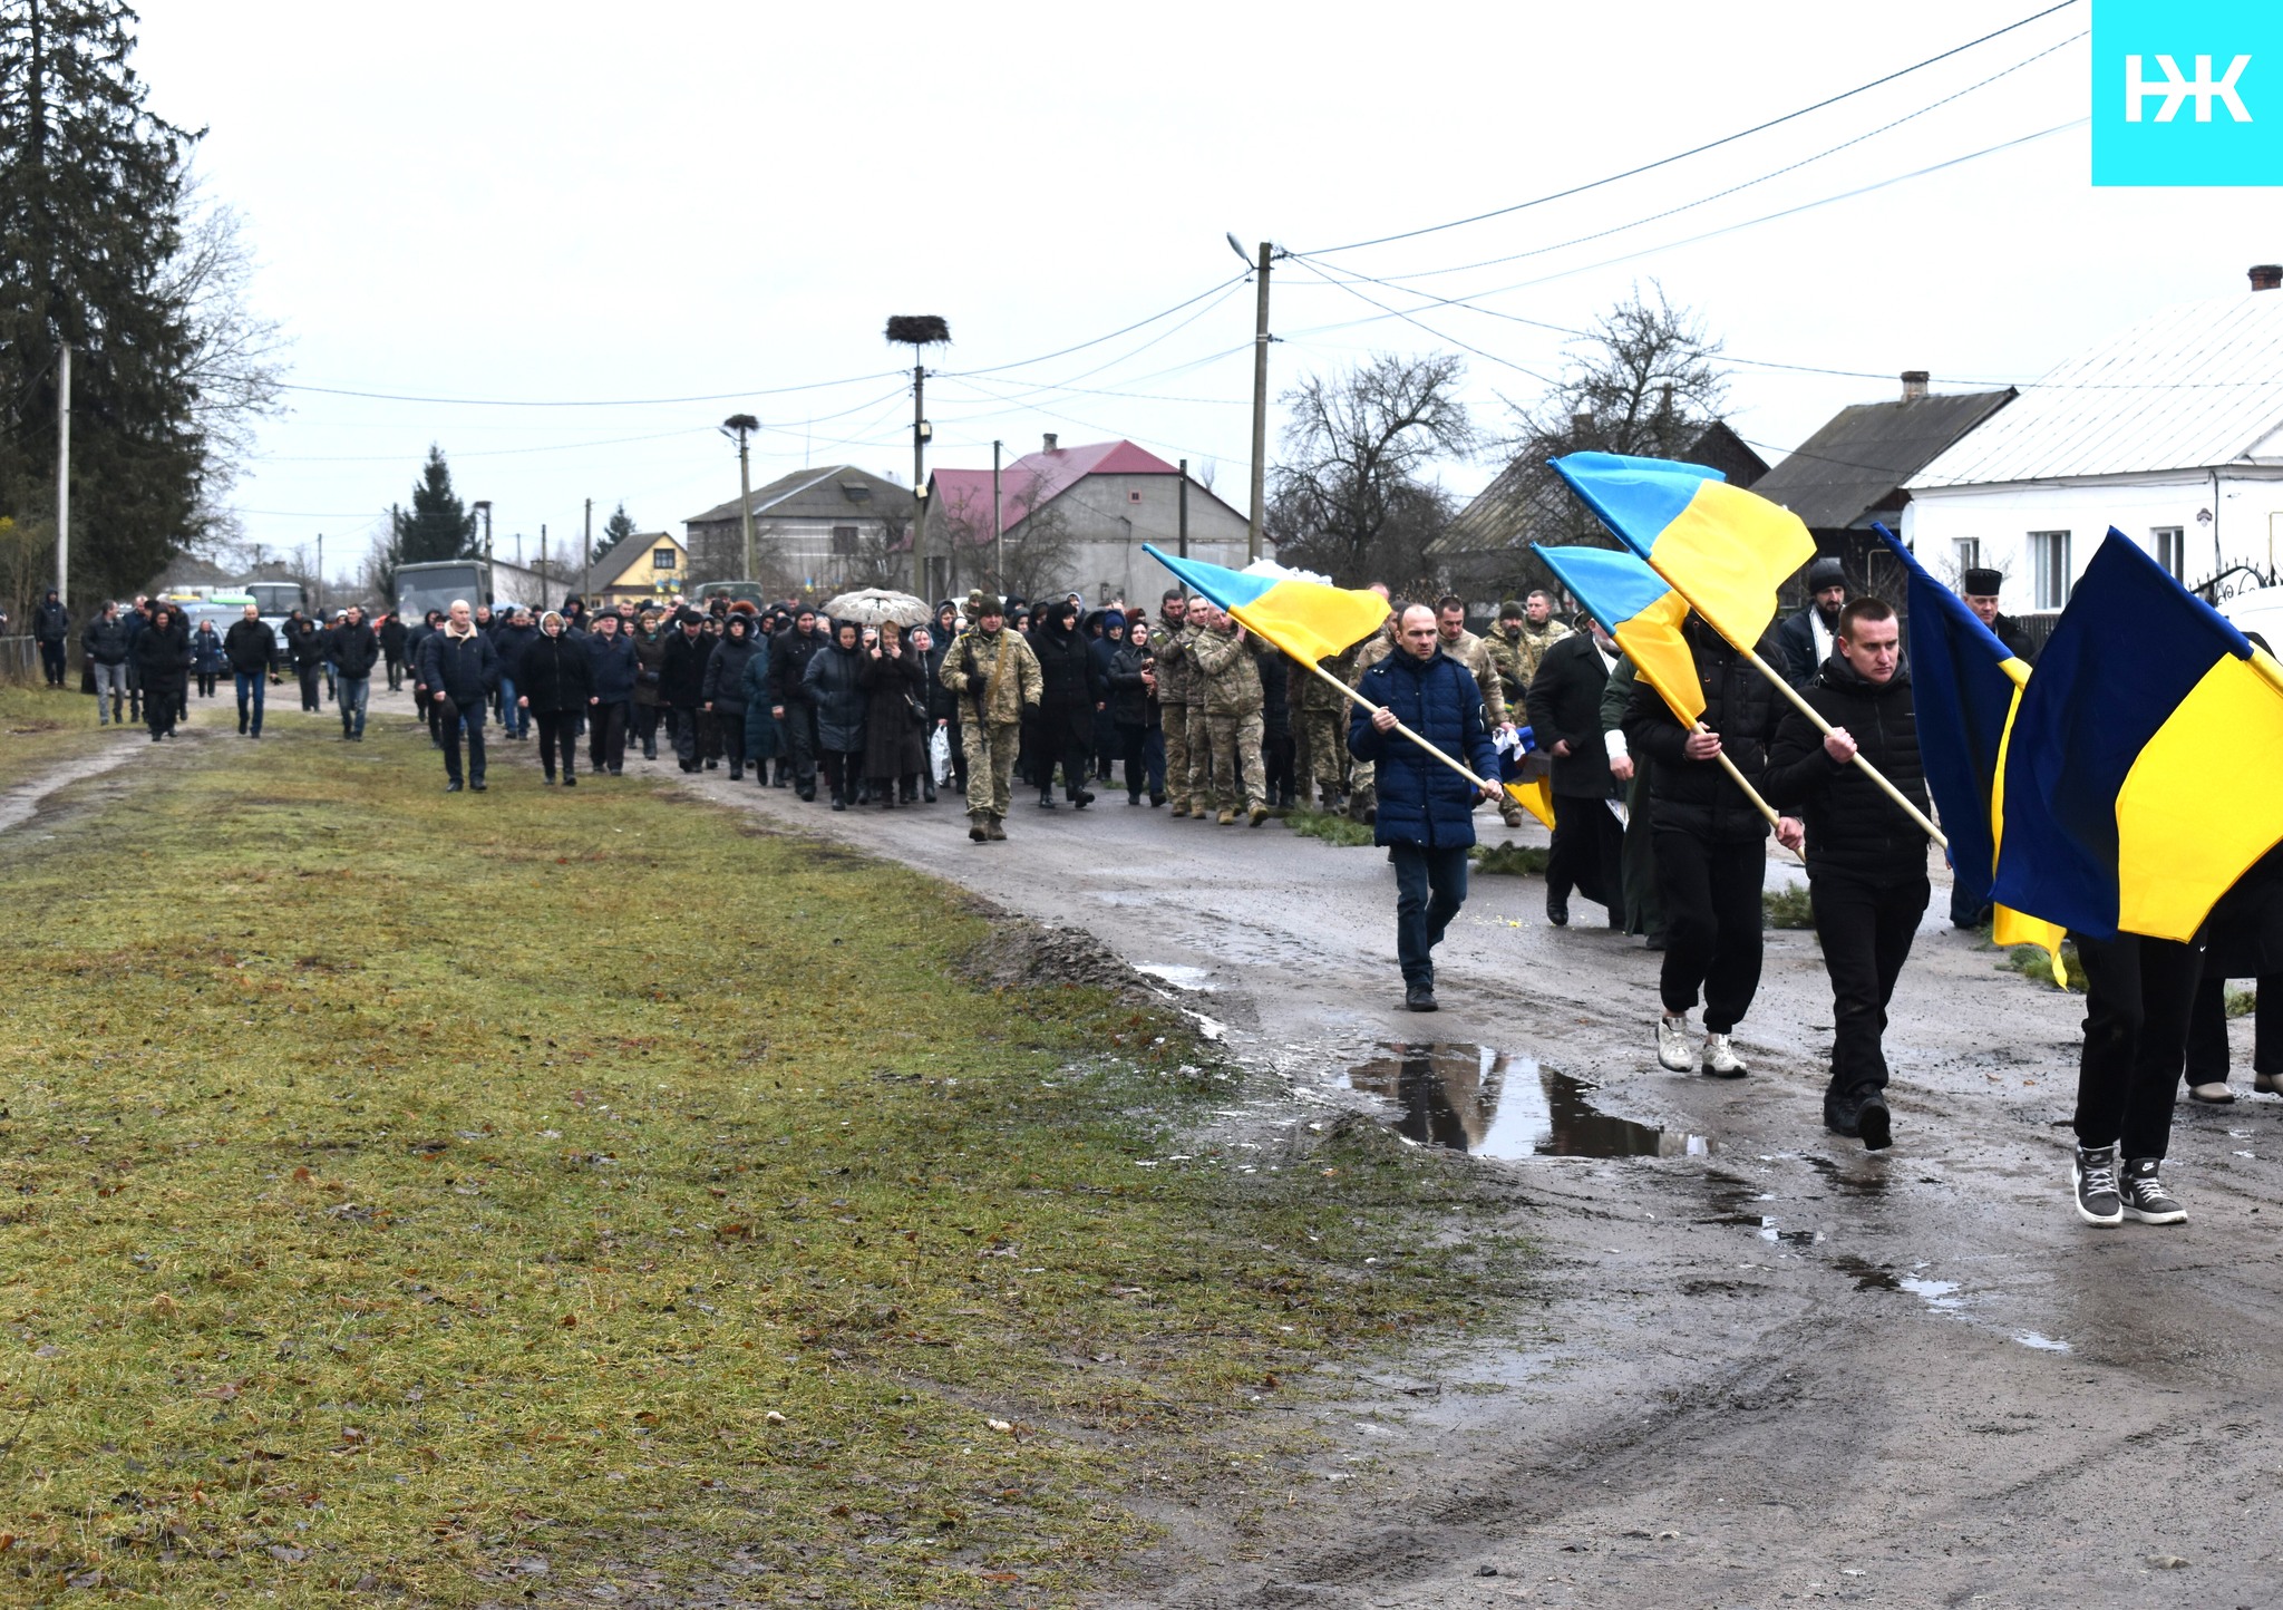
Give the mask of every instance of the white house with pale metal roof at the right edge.
<svg viewBox="0 0 2283 1610">
<path fill-rule="evenodd" d="M 2189 587 L 2283 560 L 2283 267 L 2068 359 L 1909 482 L 1927 564 L 2059 610 L 2114 525 Z"/>
</svg>

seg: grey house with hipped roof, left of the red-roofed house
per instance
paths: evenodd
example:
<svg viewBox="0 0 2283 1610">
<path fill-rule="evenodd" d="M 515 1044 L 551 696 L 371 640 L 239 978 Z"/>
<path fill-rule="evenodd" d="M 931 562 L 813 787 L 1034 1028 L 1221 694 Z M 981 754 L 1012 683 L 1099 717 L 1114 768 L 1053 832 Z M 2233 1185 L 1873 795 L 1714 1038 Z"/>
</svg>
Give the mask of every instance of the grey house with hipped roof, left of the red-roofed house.
<svg viewBox="0 0 2283 1610">
<path fill-rule="evenodd" d="M 783 591 L 833 594 L 872 580 L 911 532 L 913 496 L 854 464 L 781 475 L 753 489 L 753 550 L 760 575 L 744 573 L 744 521 L 737 498 L 683 521 L 689 580 L 751 580 Z"/>
</svg>

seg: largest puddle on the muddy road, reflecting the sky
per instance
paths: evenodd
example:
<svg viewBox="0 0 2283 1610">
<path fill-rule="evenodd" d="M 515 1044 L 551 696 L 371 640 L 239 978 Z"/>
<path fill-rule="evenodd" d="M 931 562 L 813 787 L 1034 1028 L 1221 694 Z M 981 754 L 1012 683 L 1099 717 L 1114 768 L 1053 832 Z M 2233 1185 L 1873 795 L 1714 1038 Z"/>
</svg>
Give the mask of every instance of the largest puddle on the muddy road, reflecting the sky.
<svg viewBox="0 0 2283 1610">
<path fill-rule="evenodd" d="M 1701 1158 L 1703 1135 L 1619 1119 L 1584 1080 L 1491 1046 L 1390 1044 L 1347 1071 L 1354 1089 L 1390 1101 L 1395 1128 L 1479 1158 Z"/>
</svg>

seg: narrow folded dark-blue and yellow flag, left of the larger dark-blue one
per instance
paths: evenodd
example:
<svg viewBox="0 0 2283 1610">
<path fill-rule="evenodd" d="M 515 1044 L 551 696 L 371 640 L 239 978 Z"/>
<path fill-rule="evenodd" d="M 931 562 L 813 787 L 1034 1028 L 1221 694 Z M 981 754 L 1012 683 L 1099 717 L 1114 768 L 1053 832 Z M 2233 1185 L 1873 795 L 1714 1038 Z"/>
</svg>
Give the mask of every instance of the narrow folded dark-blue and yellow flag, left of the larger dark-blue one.
<svg viewBox="0 0 2283 1610">
<path fill-rule="evenodd" d="M 1998 845 L 2004 838 L 2004 754 L 2030 667 L 1966 607 L 1927 575 L 1918 557 L 1886 525 L 1872 525 L 1902 562 L 1911 601 L 1911 706 L 1918 713 L 1918 758 L 1927 792 L 1943 813 L 1950 875 L 1977 907 L 1993 904 Z M 2062 929 L 2009 907 L 1991 913 L 2000 945 L 2036 945 L 2062 971 Z"/>
</svg>

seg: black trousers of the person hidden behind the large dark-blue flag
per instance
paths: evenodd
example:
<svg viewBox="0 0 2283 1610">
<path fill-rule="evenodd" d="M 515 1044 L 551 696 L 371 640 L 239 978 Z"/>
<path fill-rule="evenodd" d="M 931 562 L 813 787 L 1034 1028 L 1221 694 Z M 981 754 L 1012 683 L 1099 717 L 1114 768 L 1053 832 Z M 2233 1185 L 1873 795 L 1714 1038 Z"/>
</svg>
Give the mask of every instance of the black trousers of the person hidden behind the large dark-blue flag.
<svg viewBox="0 0 2283 1610">
<path fill-rule="evenodd" d="M 2125 1158 L 2162 1158 L 2171 1146 L 2171 1103 L 2187 1060 L 2203 941 L 2071 939 L 2084 966 L 2078 1144 L 2116 1144 Z"/>
</svg>

